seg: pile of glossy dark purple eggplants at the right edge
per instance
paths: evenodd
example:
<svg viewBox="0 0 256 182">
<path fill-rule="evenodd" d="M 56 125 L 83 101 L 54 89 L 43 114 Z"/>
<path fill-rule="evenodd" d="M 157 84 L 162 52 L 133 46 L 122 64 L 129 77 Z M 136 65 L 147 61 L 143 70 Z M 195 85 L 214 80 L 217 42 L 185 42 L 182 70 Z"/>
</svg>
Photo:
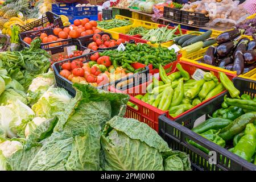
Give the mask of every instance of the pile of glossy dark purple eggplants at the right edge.
<svg viewBox="0 0 256 182">
<path fill-rule="evenodd" d="M 241 30 L 237 29 L 220 34 L 216 39 L 218 46 L 210 46 L 202 62 L 236 71 L 237 75 L 256 68 L 256 41 L 247 38 L 234 41 L 240 35 Z"/>
</svg>

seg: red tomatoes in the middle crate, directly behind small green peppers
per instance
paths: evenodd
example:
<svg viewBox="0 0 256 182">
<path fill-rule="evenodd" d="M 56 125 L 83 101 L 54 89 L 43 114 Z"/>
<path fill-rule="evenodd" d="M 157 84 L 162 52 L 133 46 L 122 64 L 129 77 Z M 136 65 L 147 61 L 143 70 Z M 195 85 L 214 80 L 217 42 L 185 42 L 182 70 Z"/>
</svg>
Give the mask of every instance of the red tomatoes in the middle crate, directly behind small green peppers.
<svg viewBox="0 0 256 182">
<path fill-rule="evenodd" d="M 92 39 L 93 42 L 88 44 L 88 48 L 94 51 L 97 51 L 98 48 L 109 48 L 118 46 L 121 43 L 125 43 L 124 39 L 110 39 L 108 34 L 103 34 L 102 36 L 100 34 L 94 34 Z"/>
</svg>

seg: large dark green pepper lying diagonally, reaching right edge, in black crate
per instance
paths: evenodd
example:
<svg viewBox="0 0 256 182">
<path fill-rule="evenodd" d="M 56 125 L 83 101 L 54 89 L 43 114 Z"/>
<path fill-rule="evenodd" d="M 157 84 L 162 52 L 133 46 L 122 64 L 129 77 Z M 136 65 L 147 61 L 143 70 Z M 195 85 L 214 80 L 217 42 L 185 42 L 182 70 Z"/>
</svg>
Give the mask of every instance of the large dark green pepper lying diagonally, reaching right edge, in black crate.
<svg viewBox="0 0 256 182">
<path fill-rule="evenodd" d="M 255 119 L 256 119 L 256 112 L 243 114 L 237 119 L 235 119 L 228 126 L 221 129 L 221 132 L 219 135 L 221 138 L 223 138 L 226 141 L 231 140 L 236 134 L 241 133 L 245 129 L 248 123 L 253 123 Z"/>
</svg>

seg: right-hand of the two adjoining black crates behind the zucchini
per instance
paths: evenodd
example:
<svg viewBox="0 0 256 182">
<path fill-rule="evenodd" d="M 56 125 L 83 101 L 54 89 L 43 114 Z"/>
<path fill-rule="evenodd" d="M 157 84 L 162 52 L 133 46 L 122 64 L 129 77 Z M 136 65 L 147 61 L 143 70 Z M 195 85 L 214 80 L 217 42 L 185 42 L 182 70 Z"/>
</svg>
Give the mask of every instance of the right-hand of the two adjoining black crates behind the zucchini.
<svg viewBox="0 0 256 182">
<path fill-rule="evenodd" d="M 209 22 L 209 17 L 204 13 L 195 13 L 189 11 L 182 11 L 181 22 L 191 24 L 199 27 L 204 27 Z"/>
</svg>

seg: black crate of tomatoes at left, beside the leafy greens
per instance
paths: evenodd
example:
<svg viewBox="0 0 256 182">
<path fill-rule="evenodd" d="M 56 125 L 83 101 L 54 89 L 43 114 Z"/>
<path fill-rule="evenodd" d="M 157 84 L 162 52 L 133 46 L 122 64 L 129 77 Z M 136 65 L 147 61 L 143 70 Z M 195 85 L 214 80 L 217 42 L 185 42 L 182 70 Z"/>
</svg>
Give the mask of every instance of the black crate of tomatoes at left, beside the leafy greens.
<svg viewBox="0 0 256 182">
<path fill-rule="evenodd" d="M 63 28 L 63 27 L 61 27 Z M 23 47 L 30 47 L 30 44 L 26 43 L 23 41 L 25 37 L 29 37 L 31 39 L 34 39 L 36 36 L 40 36 L 40 34 L 46 33 L 47 35 L 54 35 L 53 34 L 53 28 L 47 28 L 47 29 L 42 29 L 42 30 L 36 30 L 36 31 L 29 31 L 29 32 L 22 32 L 19 34 L 19 40 L 20 43 L 22 44 Z M 53 44 L 58 43 L 59 46 L 54 46 Z M 50 43 L 42 43 L 41 48 L 46 50 L 46 51 L 52 51 L 52 50 L 57 50 L 63 47 L 66 47 L 68 45 L 72 45 L 73 40 L 72 38 L 65 39 L 65 40 L 59 40 L 55 42 L 50 42 Z"/>
</svg>

